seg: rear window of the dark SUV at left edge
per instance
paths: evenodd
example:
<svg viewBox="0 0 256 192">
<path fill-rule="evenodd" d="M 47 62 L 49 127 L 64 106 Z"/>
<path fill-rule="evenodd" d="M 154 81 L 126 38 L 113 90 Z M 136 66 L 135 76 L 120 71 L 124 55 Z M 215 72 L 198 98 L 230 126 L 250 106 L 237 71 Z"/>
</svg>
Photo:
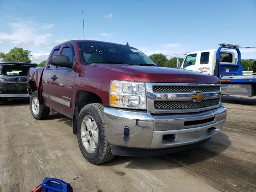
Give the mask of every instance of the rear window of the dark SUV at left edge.
<svg viewBox="0 0 256 192">
<path fill-rule="evenodd" d="M 27 76 L 29 66 L 4 65 L 1 74 L 7 76 Z"/>
</svg>

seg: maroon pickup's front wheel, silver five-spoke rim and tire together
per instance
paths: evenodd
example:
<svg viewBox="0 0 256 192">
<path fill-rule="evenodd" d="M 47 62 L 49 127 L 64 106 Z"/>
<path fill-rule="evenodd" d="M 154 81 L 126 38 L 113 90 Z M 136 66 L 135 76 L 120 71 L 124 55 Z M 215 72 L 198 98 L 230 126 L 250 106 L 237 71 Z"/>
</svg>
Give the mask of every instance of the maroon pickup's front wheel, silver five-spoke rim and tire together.
<svg viewBox="0 0 256 192">
<path fill-rule="evenodd" d="M 101 164 L 114 158 L 106 136 L 103 109 L 102 104 L 88 104 L 82 108 L 78 117 L 78 144 L 84 158 L 92 164 Z"/>
</svg>

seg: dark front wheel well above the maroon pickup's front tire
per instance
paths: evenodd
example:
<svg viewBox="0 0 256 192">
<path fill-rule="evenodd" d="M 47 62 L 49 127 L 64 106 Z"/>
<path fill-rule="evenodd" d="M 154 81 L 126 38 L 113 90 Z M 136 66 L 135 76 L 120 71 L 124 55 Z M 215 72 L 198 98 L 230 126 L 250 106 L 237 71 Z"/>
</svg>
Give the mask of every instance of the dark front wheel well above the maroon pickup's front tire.
<svg viewBox="0 0 256 192">
<path fill-rule="evenodd" d="M 78 116 L 81 111 L 81 109 L 90 103 L 103 103 L 101 98 L 88 91 L 78 91 L 76 93 L 76 105 L 74 110 L 74 116 L 73 116 L 73 133 L 76 134 L 76 126 L 78 121 Z"/>
</svg>

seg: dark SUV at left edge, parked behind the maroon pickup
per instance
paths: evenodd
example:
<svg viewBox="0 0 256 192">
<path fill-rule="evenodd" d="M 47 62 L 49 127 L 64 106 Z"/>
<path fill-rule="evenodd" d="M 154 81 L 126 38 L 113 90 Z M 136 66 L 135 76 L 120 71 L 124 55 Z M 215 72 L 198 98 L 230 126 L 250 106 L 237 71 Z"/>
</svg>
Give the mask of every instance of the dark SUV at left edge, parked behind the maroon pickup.
<svg viewBox="0 0 256 192">
<path fill-rule="evenodd" d="M 29 98 L 27 73 L 37 64 L 23 62 L 0 62 L 0 99 Z"/>
</svg>

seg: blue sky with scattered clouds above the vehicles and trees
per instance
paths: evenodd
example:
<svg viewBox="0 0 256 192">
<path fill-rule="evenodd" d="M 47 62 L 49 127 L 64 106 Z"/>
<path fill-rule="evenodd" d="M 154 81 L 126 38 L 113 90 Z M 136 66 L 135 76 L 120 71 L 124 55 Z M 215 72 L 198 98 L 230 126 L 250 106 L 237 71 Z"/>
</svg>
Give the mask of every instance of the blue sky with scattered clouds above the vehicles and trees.
<svg viewBox="0 0 256 192">
<path fill-rule="evenodd" d="M 82 10 L 86 39 L 129 42 L 147 55 L 256 46 L 256 0 L 0 0 L 0 52 L 22 47 L 40 63 L 53 46 L 83 38 Z M 241 52 L 256 58 L 256 48 Z"/>
</svg>

